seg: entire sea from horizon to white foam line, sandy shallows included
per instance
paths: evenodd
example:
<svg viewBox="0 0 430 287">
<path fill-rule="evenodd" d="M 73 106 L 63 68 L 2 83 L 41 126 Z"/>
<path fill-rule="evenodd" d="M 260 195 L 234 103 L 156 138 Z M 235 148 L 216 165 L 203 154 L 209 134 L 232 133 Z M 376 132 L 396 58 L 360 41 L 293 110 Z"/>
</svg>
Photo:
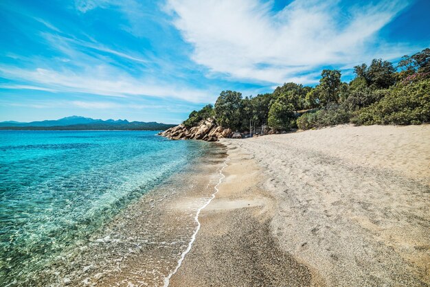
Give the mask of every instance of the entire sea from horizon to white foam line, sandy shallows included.
<svg viewBox="0 0 430 287">
<path fill-rule="evenodd" d="M 224 159 L 155 131 L 0 130 L 0 286 L 161 286 Z"/>
</svg>

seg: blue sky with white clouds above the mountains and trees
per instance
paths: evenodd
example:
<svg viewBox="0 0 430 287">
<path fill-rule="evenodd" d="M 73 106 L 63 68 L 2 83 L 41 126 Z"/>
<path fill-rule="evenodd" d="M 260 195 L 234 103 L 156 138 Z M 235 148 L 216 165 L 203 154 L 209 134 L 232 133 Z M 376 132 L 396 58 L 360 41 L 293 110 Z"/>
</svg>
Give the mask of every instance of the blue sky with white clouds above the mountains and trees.
<svg viewBox="0 0 430 287">
<path fill-rule="evenodd" d="M 322 69 L 430 46 L 430 1 L 1 0 L 0 122 L 177 124 L 220 91 L 315 86 Z"/>
</svg>

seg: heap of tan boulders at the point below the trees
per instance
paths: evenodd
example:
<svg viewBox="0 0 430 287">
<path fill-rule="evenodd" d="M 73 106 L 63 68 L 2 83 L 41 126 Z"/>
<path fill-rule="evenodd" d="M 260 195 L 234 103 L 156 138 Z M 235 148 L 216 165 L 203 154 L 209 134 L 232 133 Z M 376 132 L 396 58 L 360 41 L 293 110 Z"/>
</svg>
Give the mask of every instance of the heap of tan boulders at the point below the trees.
<svg viewBox="0 0 430 287">
<path fill-rule="evenodd" d="M 168 139 L 201 139 L 203 141 L 218 141 L 223 137 L 231 137 L 232 131 L 229 128 L 217 126 L 214 119 L 207 118 L 200 122 L 199 126 L 187 128 L 183 124 L 174 126 L 159 133 Z"/>
</svg>

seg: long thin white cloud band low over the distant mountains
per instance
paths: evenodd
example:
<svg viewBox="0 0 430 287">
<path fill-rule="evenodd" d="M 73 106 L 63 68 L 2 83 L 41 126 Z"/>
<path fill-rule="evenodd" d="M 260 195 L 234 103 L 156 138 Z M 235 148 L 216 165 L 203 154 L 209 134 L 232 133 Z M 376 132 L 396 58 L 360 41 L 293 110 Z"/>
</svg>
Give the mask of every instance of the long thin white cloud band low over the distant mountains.
<svg viewBox="0 0 430 287">
<path fill-rule="evenodd" d="M 153 97 L 174 97 L 189 102 L 208 102 L 213 95 L 207 91 L 188 89 L 174 84 L 151 82 L 136 79 L 109 66 L 99 65 L 85 71 L 54 71 L 37 68 L 34 70 L 16 67 L 0 67 L 0 75 L 13 80 L 25 80 L 32 85 L 9 84 L 8 89 L 41 89 L 45 91 L 63 91 L 91 93 L 113 97 L 131 95 L 150 95 Z M 115 75 L 115 77 L 113 77 Z"/>
</svg>

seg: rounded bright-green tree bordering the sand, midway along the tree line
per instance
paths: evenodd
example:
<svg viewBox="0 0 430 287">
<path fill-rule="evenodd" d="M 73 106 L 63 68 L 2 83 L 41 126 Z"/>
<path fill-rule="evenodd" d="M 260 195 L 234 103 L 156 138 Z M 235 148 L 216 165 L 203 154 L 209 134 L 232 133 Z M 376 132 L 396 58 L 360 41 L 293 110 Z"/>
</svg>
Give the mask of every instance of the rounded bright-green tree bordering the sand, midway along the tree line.
<svg viewBox="0 0 430 287">
<path fill-rule="evenodd" d="M 284 96 L 278 97 L 269 111 L 269 126 L 274 130 L 289 130 L 294 119 L 294 106 L 286 102 Z"/>
</svg>

